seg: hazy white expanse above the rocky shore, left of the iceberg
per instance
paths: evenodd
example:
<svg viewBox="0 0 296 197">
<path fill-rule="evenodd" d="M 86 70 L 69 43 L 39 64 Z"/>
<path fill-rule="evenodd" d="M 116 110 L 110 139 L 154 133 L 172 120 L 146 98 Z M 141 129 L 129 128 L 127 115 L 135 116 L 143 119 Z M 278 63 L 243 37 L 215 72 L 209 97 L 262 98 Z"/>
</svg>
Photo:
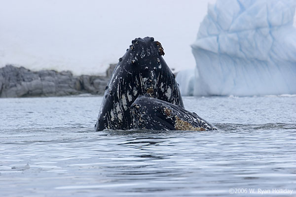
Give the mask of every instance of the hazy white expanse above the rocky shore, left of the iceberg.
<svg viewBox="0 0 296 197">
<path fill-rule="evenodd" d="M 215 1 L 0 0 L 0 67 L 102 73 L 132 39 L 152 36 L 171 68 L 192 68 L 190 44 Z"/>
</svg>

